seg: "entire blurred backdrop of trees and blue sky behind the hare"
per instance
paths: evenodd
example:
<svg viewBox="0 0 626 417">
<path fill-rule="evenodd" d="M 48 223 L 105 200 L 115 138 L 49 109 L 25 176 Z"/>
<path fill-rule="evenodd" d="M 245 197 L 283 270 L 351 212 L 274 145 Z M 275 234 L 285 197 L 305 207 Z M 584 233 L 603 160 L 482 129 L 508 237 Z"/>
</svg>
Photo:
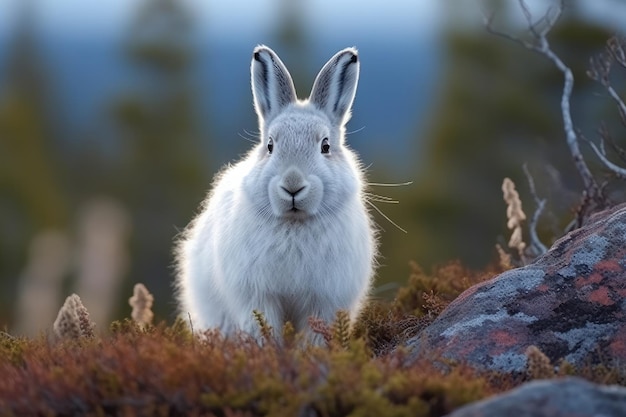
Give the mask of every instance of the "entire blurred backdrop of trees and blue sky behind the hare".
<svg viewBox="0 0 626 417">
<path fill-rule="evenodd" d="M 537 17 L 550 4 L 529 0 Z M 574 70 L 576 127 L 596 139 L 604 124 L 619 137 L 615 106 L 585 71 L 626 27 L 626 3 L 567 4 L 550 39 Z M 400 201 L 379 208 L 407 231 L 374 213 L 376 296 L 393 297 L 411 260 L 426 270 L 493 262 L 508 240 L 505 176 L 534 209 L 524 163 L 548 199 L 540 234 L 551 243 L 581 191 L 562 75 L 485 32 L 481 9 L 496 6 L 498 27 L 524 29 L 511 0 L 0 0 L 0 326 L 37 334 L 76 292 L 106 329 L 129 315 L 136 282 L 159 319 L 174 318 L 173 241 L 214 173 L 251 146 L 249 63 L 260 43 L 301 98 L 330 56 L 359 48 L 348 142 L 370 181 L 413 181 L 373 188 Z"/>
</svg>

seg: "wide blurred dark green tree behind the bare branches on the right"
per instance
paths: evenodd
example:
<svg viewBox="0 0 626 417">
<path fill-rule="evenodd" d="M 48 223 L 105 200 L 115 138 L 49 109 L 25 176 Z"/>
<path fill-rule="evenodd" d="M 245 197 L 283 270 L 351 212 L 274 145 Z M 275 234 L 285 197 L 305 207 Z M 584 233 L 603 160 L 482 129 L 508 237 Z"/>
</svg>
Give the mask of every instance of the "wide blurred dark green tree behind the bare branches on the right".
<svg viewBox="0 0 626 417">
<path fill-rule="evenodd" d="M 452 17 L 454 3 L 448 2 Z M 602 118 L 594 98 L 598 89 L 585 70 L 609 33 L 575 10 L 557 24 L 550 40 L 574 71 L 574 121 L 591 132 Z M 499 15 L 510 14 L 501 10 Z M 528 215 L 535 208 L 522 170 L 526 162 L 538 194 L 548 199 L 540 228 L 546 243 L 563 233 L 578 203 L 581 182 L 562 128 L 562 74 L 544 57 L 469 26 L 456 19 L 447 26 L 446 69 L 423 155 L 416 158 L 422 161 L 418 180 L 398 191 L 401 207 L 388 210 L 410 230 L 411 245 L 388 250 L 390 264 L 415 259 L 430 267 L 460 258 L 483 267 L 494 260 L 494 244 L 500 237 L 505 245 L 507 234 L 503 178 L 518 184 Z M 520 28 L 510 21 L 502 26 Z"/>
</svg>

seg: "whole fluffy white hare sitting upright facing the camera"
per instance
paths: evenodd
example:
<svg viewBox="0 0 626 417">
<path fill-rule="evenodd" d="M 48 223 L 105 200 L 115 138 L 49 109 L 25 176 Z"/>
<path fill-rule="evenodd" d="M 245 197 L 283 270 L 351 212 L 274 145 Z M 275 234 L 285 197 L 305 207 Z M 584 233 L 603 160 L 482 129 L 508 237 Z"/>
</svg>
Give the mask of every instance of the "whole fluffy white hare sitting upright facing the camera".
<svg viewBox="0 0 626 417">
<path fill-rule="evenodd" d="M 253 310 L 280 332 L 290 321 L 354 318 L 377 253 L 364 174 L 345 145 L 359 78 L 356 49 L 321 69 L 308 100 L 270 48 L 254 49 L 259 143 L 218 175 L 177 248 L 180 311 L 194 329 L 259 337 Z"/>
</svg>

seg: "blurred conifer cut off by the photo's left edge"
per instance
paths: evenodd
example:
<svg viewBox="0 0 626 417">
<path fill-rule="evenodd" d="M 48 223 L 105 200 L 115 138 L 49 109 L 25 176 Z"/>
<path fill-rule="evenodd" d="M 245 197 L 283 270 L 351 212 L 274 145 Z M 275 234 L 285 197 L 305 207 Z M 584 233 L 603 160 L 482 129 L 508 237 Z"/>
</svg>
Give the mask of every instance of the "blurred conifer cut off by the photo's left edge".
<svg viewBox="0 0 626 417">
<path fill-rule="evenodd" d="M 20 5 L 0 80 L 0 325 L 12 306 L 29 242 L 46 229 L 65 228 L 69 217 L 48 67 L 33 6 Z"/>
</svg>

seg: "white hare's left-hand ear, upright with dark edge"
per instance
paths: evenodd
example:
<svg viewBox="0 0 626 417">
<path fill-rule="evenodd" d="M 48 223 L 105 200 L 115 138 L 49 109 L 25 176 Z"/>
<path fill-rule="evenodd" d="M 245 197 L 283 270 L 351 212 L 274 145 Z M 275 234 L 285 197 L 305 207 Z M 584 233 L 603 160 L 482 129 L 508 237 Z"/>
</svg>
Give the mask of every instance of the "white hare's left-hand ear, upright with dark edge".
<svg viewBox="0 0 626 417">
<path fill-rule="evenodd" d="M 267 46 L 254 48 L 250 64 L 254 108 L 259 120 L 268 121 L 296 101 L 296 89 L 285 64 Z"/>
</svg>

